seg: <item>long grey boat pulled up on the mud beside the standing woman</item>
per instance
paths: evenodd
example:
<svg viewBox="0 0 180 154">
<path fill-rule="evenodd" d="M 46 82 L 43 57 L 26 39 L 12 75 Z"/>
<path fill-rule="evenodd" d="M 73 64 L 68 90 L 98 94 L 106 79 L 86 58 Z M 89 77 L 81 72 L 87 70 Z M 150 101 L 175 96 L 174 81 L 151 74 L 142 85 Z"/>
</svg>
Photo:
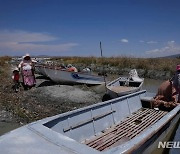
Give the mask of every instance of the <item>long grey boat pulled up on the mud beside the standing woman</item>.
<svg viewBox="0 0 180 154">
<path fill-rule="evenodd" d="M 70 84 L 91 84 L 98 85 L 104 83 L 103 77 L 91 75 L 82 72 L 68 72 L 60 68 L 50 66 L 35 66 L 41 73 L 49 77 L 56 83 L 70 83 Z"/>
</svg>

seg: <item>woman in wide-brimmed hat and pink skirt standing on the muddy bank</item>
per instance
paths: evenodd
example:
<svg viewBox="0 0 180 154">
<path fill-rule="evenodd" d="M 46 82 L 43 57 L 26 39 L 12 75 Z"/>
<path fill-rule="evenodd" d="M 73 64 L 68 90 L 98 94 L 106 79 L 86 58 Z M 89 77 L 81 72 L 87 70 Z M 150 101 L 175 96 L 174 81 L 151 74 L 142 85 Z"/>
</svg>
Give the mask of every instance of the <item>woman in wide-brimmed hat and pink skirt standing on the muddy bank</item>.
<svg viewBox="0 0 180 154">
<path fill-rule="evenodd" d="M 25 89 L 31 88 L 36 84 L 34 75 L 34 62 L 29 54 L 23 56 L 23 60 L 18 66 L 21 70 L 23 84 Z"/>
</svg>

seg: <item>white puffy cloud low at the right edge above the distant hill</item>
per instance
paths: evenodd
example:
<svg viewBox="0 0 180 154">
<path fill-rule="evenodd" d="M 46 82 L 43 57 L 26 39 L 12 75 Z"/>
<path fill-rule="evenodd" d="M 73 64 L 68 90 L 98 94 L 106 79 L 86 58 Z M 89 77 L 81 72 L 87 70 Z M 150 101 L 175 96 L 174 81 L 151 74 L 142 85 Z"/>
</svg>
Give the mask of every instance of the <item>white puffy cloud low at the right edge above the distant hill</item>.
<svg viewBox="0 0 180 154">
<path fill-rule="evenodd" d="M 168 41 L 167 46 L 160 49 L 153 49 L 145 52 L 151 57 L 169 56 L 180 53 L 180 46 L 175 45 L 175 41 Z"/>
</svg>

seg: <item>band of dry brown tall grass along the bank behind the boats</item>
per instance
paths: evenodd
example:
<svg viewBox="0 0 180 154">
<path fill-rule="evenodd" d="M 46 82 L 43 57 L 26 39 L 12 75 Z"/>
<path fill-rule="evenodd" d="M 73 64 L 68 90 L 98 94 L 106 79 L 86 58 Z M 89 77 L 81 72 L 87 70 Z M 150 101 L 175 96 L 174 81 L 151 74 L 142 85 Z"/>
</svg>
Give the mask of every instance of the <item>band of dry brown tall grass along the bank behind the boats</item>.
<svg viewBox="0 0 180 154">
<path fill-rule="evenodd" d="M 65 64 L 82 64 L 89 66 L 113 66 L 118 68 L 136 68 L 144 70 L 174 72 L 176 65 L 180 64 L 179 58 L 131 58 L 131 57 L 61 57 L 53 59 Z"/>
</svg>

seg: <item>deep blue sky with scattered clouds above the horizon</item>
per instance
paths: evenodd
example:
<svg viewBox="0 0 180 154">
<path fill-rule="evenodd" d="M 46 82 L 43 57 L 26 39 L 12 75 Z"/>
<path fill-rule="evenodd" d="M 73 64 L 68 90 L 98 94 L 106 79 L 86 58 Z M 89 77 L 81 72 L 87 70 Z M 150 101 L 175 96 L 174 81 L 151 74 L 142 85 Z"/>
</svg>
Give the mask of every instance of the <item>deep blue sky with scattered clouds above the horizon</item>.
<svg viewBox="0 0 180 154">
<path fill-rule="evenodd" d="M 180 53 L 179 0 L 0 0 L 0 56 Z"/>
</svg>

